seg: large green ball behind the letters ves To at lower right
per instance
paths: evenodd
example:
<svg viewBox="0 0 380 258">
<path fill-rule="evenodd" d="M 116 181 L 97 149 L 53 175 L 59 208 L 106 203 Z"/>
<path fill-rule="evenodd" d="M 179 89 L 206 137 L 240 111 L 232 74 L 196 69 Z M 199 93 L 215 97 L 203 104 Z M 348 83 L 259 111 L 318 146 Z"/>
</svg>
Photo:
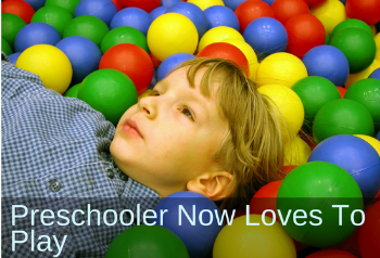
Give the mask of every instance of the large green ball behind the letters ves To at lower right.
<svg viewBox="0 0 380 258">
<path fill-rule="evenodd" d="M 349 205 L 342 209 L 339 225 L 339 209 L 332 205 Z M 311 162 L 294 168 L 281 182 L 277 194 L 277 209 L 286 218 L 291 216 L 283 229 L 297 242 L 307 246 L 326 247 L 341 243 L 354 233 L 356 225 L 351 221 L 355 209 L 363 209 L 363 195 L 355 179 L 343 168 L 326 162 Z M 294 211 L 301 209 L 307 218 L 293 220 Z M 320 221 L 311 217 L 314 216 Z M 299 211 L 300 212 L 300 211 Z M 301 211 L 302 212 L 302 211 Z M 299 214 L 299 216 L 301 215 Z M 354 222 L 362 221 L 355 212 Z M 301 223 L 306 222 L 304 225 Z"/>
</svg>

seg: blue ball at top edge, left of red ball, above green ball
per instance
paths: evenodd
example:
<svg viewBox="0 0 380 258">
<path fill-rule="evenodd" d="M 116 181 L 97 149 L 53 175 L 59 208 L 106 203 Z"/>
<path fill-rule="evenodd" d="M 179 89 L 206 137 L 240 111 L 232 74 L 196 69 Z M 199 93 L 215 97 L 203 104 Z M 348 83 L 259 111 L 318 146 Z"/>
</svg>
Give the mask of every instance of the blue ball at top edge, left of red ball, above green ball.
<svg viewBox="0 0 380 258">
<path fill-rule="evenodd" d="M 116 13 L 117 8 L 111 0 L 80 0 L 75 8 L 74 17 L 91 15 L 102 20 L 109 26 Z"/>
</svg>

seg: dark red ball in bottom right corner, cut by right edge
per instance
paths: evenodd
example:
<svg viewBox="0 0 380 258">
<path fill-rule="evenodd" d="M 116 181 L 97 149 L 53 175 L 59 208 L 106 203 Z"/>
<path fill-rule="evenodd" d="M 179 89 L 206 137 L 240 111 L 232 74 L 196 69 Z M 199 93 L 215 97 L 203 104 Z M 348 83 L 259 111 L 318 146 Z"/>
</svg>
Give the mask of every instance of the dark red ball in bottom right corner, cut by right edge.
<svg viewBox="0 0 380 258">
<path fill-rule="evenodd" d="M 379 257 L 380 254 L 380 201 L 366 211 L 366 220 L 359 228 L 358 246 L 362 258 Z"/>
</svg>

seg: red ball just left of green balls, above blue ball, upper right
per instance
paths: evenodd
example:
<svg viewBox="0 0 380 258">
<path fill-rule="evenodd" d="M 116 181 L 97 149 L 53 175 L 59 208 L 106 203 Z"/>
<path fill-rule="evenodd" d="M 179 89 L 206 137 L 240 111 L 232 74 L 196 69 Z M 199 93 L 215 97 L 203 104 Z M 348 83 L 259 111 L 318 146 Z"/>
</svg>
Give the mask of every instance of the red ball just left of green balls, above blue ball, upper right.
<svg viewBox="0 0 380 258">
<path fill-rule="evenodd" d="M 324 44 L 326 30 L 322 23 L 312 14 L 300 14 L 284 25 L 288 31 L 287 52 L 302 59 L 311 49 Z"/>
</svg>

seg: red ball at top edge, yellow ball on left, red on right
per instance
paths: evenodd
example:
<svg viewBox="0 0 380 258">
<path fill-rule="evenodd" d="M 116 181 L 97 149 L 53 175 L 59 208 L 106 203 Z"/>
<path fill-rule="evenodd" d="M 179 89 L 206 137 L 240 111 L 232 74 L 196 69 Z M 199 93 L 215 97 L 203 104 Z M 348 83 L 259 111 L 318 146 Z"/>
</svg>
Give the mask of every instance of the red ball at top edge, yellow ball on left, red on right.
<svg viewBox="0 0 380 258">
<path fill-rule="evenodd" d="M 239 4 L 235 10 L 240 24 L 240 33 L 243 34 L 245 27 L 254 20 L 259 17 L 275 17 L 275 12 L 270 5 L 264 1 L 245 1 Z"/>
</svg>

